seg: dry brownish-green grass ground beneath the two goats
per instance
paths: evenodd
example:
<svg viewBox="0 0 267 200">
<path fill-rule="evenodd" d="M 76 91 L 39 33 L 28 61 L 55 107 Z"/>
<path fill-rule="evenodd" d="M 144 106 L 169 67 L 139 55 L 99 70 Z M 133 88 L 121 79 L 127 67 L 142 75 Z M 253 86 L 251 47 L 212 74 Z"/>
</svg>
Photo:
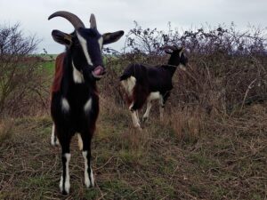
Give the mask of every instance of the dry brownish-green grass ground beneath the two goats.
<svg viewBox="0 0 267 200">
<path fill-rule="evenodd" d="M 43 62 L 48 76 L 53 61 Z M 232 116 L 158 107 L 143 131 L 127 108 L 101 92 L 93 138 L 95 188 L 85 188 L 84 160 L 71 143 L 70 194 L 61 196 L 61 149 L 50 145 L 47 114 L 0 124 L 0 199 L 267 199 L 267 105 Z"/>
</svg>

